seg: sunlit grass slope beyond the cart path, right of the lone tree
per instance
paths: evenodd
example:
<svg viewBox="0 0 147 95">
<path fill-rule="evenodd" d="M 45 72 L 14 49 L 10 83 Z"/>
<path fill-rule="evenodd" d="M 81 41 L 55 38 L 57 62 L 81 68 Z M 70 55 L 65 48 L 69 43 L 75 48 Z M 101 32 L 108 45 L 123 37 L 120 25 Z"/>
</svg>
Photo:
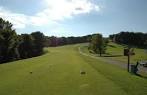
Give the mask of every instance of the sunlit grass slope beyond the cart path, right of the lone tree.
<svg viewBox="0 0 147 95">
<path fill-rule="evenodd" d="M 118 45 L 118 44 L 110 42 L 108 44 L 106 52 L 108 53 L 108 56 L 109 55 L 114 56 L 114 57 L 110 57 L 110 58 L 127 63 L 127 56 L 123 56 L 123 52 L 124 52 L 125 47 L 126 46 Z M 132 55 L 130 57 L 131 63 L 136 64 L 137 61 L 144 61 L 144 60 L 147 61 L 147 49 L 134 48 L 134 53 L 135 53 L 135 55 Z"/>
</svg>

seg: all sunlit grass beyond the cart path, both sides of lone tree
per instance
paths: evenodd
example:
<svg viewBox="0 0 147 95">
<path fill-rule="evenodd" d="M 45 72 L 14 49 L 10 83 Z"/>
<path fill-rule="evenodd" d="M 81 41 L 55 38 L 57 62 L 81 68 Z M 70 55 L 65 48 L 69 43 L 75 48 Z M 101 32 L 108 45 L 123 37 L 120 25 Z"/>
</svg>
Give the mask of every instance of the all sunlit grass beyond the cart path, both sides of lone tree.
<svg viewBox="0 0 147 95">
<path fill-rule="evenodd" d="M 99 56 L 97 54 L 89 53 L 87 44 L 85 44 L 81 48 L 82 48 L 83 52 L 85 52 L 89 55 Z M 127 63 L 128 57 L 123 55 L 124 48 L 126 48 L 125 45 L 119 45 L 119 44 L 110 42 L 107 46 L 106 54 L 103 54 L 102 56 L 103 56 L 103 58 L 109 58 L 109 59 L 113 59 L 113 60 L 120 61 L 123 63 Z M 134 47 L 134 53 L 135 53 L 135 55 L 132 55 L 130 57 L 130 59 L 131 59 L 130 62 L 132 64 L 136 64 L 137 61 L 147 60 L 147 49 L 141 49 L 141 48 Z"/>
</svg>

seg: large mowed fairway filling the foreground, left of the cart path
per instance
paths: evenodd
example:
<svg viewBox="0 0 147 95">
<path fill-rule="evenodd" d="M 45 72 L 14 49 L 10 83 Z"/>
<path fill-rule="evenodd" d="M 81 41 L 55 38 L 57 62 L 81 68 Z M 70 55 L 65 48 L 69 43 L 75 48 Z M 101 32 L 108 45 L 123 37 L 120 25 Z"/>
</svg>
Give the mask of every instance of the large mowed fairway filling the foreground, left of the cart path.
<svg viewBox="0 0 147 95">
<path fill-rule="evenodd" d="M 81 55 L 79 46 L 0 64 L 0 95 L 147 95 L 146 79 Z"/>
</svg>

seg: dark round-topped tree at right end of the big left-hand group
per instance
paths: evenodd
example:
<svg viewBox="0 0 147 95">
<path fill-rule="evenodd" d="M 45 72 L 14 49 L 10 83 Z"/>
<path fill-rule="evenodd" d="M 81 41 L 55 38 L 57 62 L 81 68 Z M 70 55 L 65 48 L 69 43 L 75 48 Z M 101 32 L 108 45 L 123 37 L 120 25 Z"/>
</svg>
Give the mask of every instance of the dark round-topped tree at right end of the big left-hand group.
<svg viewBox="0 0 147 95">
<path fill-rule="evenodd" d="M 34 39 L 34 56 L 41 55 L 43 53 L 45 36 L 39 31 L 31 33 L 31 35 Z"/>
</svg>

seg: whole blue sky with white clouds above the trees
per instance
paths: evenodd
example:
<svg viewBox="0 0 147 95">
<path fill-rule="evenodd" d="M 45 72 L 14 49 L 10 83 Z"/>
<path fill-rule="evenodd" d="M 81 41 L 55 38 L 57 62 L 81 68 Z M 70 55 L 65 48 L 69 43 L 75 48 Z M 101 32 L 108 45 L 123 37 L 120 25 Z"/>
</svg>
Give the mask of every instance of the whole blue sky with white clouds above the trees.
<svg viewBox="0 0 147 95">
<path fill-rule="evenodd" d="M 147 33 L 147 0 L 0 0 L 0 17 L 18 34 Z"/>
</svg>

